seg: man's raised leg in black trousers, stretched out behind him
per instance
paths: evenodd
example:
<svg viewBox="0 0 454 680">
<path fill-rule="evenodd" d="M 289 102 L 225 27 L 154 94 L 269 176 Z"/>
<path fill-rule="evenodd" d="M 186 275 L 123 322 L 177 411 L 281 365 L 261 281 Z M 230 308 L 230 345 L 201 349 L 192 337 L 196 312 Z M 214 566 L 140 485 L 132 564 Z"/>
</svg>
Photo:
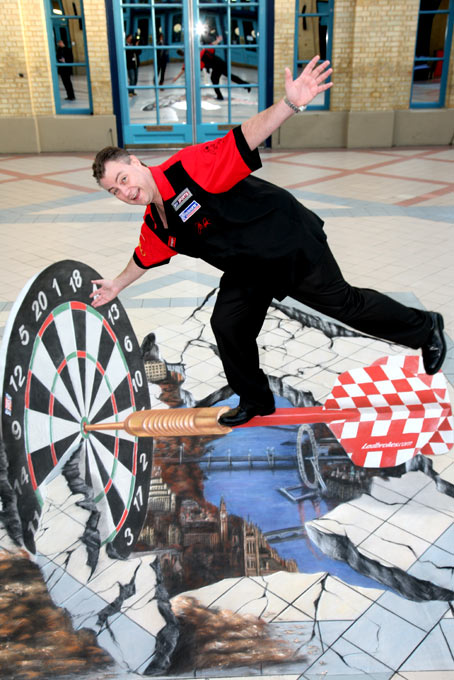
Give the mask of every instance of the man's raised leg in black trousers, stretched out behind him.
<svg viewBox="0 0 454 680">
<path fill-rule="evenodd" d="M 368 335 L 413 349 L 422 347 L 425 364 L 424 347 L 431 341 L 434 323 L 440 324 L 440 320 L 441 328 L 435 331 L 444 344 L 440 315 L 406 307 L 369 288 L 351 286 L 342 276 L 329 248 L 315 269 L 296 284 L 289 294 L 309 307 Z M 440 352 L 443 353 L 442 347 Z"/>
</svg>

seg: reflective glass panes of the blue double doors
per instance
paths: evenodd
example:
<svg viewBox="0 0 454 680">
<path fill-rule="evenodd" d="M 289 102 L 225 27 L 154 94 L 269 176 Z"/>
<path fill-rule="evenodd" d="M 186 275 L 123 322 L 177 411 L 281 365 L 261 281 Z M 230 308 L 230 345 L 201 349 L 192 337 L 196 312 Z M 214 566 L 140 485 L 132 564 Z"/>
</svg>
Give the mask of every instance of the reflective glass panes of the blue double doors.
<svg viewBox="0 0 454 680">
<path fill-rule="evenodd" d="M 187 62 L 181 3 L 123 3 L 123 27 L 137 40 L 140 65 L 128 91 L 130 123 L 150 126 L 186 123 L 192 83 L 186 69 L 196 70 L 197 102 L 202 122 L 245 120 L 258 108 L 258 7 L 199 5 L 195 63 Z M 136 44 L 136 43 L 134 43 Z M 127 73 L 124 47 L 124 68 Z M 131 95 L 131 90 L 134 95 Z"/>
</svg>

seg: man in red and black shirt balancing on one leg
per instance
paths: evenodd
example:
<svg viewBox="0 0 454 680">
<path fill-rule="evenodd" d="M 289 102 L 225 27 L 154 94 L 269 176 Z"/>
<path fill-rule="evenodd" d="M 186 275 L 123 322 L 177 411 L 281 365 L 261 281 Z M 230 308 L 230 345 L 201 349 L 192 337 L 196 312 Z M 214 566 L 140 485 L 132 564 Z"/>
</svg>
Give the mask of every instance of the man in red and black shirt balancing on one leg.
<svg viewBox="0 0 454 680">
<path fill-rule="evenodd" d="M 224 272 L 211 325 L 227 381 L 240 397 L 220 418 L 229 426 L 274 411 L 256 343 L 273 297 L 290 295 L 359 331 L 422 348 L 430 374 L 446 354 L 440 314 L 350 286 L 320 218 L 285 189 L 249 176 L 261 165 L 257 147 L 330 87 L 329 62 L 317 64 L 314 57 L 296 80 L 286 69 L 286 96 L 221 139 L 181 149 L 158 167 L 147 168 L 117 147 L 100 151 L 93 164 L 104 189 L 130 205 L 147 206 L 127 267 L 113 280 L 94 281 L 95 307 L 176 253 L 201 257 Z"/>
</svg>

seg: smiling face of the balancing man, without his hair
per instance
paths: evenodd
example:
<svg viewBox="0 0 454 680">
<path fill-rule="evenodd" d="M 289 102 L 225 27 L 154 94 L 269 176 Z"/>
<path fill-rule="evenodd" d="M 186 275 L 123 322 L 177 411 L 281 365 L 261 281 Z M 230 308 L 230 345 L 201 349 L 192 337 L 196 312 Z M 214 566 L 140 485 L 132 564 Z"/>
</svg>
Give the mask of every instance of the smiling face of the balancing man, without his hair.
<svg viewBox="0 0 454 680">
<path fill-rule="evenodd" d="M 130 163 L 124 160 L 107 161 L 100 185 L 129 205 L 155 203 L 160 196 L 151 172 L 136 156 L 130 156 L 130 159 Z"/>
</svg>

